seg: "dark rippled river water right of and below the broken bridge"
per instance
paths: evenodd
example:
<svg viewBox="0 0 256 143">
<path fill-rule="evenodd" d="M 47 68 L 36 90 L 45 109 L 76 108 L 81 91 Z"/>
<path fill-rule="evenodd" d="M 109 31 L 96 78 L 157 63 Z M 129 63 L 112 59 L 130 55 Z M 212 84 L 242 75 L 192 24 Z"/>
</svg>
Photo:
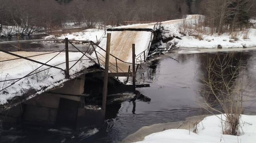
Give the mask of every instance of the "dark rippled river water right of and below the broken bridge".
<svg viewBox="0 0 256 143">
<path fill-rule="evenodd" d="M 201 78 L 206 74 L 206 61 L 215 53 L 168 53 L 148 62 L 137 72 L 137 84 L 150 87 L 137 89 L 141 96 L 121 103 L 107 105 L 106 123 L 100 129 L 64 132 L 55 129 L 5 130 L 0 142 L 13 143 L 115 143 L 143 126 L 181 121 L 205 114 L 200 108 Z M 223 52 L 223 54 L 225 54 Z M 228 52 L 242 57 L 245 89 L 244 114 L 256 114 L 256 51 Z"/>
</svg>

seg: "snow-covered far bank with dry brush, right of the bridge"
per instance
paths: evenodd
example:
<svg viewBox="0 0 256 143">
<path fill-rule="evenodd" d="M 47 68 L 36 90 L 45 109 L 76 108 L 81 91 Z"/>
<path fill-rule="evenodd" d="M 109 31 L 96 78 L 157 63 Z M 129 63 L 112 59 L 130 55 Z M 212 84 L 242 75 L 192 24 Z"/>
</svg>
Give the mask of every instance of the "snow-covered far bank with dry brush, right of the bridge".
<svg viewBox="0 0 256 143">
<path fill-rule="evenodd" d="M 191 16 L 188 16 L 191 17 Z M 256 22 L 251 20 L 251 22 Z M 202 31 L 198 32 L 195 29 L 183 27 L 184 23 L 193 27 L 198 23 L 197 19 L 189 19 L 178 21 L 173 24 L 165 24 L 162 26 L 162 38 L 171 38 L 168 42 L 162 43 L 163 46 L 169 46 L 171 43 L 176 43 L 180 47 L 193 47 L 193 48 L 242 48 L 256 46 L 256 29 L 250 28 L 247 30 L 239 31 L 230 35 L 224 34 L 208 34 L 208 28 L 204 27 Z M 179 37 L 179 38 L 174 38 Z"/>
</svg>

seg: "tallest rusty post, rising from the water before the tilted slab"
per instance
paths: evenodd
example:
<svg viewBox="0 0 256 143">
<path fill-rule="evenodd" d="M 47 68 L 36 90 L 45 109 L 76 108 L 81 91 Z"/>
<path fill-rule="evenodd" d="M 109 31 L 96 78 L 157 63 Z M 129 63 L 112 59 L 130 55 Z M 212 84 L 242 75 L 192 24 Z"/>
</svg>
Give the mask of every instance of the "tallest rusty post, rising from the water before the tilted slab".
<svg viewBox="0 0 256 143">
<path fill-rule="evenodd" d="M 111 33 L 108 33 L 105 71 L 104 71 L 104 85 L 103 85 L 103 92 L 102 92 L 102 109 L 103 110 L 106 110 L 106 102 L 107 102 L 107 94 L 108 94 L 108 68 L 109 68 L 108 66 L 109 66 L 110 42 L 111 42 Z"/>
</svg>

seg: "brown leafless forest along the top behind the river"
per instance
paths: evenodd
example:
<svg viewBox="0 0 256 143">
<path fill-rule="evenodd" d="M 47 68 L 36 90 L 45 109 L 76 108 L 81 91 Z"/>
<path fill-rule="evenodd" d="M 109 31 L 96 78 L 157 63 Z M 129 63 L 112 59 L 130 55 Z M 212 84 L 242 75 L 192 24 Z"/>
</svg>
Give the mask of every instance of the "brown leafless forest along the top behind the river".
<svg viewBox="0 0 256 143">
<path fill-rule="evenodd" d="M 0 24 L 57 29 L 67 22 L 119 25 L 122 21 L 158 22 L 203 14 L 208 24 L 243 25 L 255 16 L 255 0 L 0 0 Z M 237 23 L 237 25 L 234 25 Z"/>
</svg>

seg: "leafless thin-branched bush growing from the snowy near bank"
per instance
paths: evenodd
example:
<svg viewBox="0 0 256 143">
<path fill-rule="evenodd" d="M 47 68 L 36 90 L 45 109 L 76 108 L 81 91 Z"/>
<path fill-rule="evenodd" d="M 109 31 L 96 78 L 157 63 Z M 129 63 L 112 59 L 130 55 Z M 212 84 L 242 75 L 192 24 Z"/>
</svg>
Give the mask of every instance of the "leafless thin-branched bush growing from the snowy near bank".
<svg viewBox="0 0 256 143">
<path fill-rule="evenodd" d="M 233 54 L 217 53 L 209 58 L 207 75 L 202 78 L 201 106 L 212 114 L 223 114 L 223 134 L 239 135 L 239 119 L 243 112 L 241 60 Z"/>
</svg>

